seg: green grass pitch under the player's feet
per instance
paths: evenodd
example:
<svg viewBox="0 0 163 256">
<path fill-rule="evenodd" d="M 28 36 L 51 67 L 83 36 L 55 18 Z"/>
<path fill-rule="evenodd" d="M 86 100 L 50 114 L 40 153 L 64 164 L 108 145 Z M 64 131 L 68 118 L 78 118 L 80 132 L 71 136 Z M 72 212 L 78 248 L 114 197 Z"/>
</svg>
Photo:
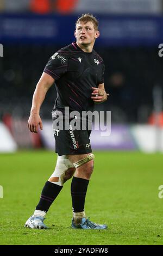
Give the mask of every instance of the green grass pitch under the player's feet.
<svg viewBox="0 0 163 256">
<path fill-rule="evenodd" d="M 108 230 L 71 229 L 68 180 L 46 215 L 49 230 L 24 228 L 33 214 L 57 155 L 51 151 L 20 151 L 0 155 L 1 245 L 162 245 L 163 185 L 161 154 L 94 152 L 95 169 L 87 190 L 85 211 Z"/>
</svg>

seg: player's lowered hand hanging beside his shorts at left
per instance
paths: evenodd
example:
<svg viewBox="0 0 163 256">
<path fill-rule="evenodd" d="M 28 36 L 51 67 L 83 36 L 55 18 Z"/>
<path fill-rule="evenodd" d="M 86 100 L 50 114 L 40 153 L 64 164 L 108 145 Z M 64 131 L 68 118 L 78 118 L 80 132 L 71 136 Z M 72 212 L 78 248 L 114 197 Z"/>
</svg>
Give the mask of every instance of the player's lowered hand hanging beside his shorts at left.
<svg viewBox="0 0 163 256">
<path fill-rule="evenodd" d="M 40 129 L 43 130 L 43 126 L 42 126 L 42 120 L 40 118 L 39 114 L 30 114 L 30 117 L 28 119 L 28 129 L 31 132 L 35 132 L 37 133 L 37 126 L 40 126 Z"/>
</svg>

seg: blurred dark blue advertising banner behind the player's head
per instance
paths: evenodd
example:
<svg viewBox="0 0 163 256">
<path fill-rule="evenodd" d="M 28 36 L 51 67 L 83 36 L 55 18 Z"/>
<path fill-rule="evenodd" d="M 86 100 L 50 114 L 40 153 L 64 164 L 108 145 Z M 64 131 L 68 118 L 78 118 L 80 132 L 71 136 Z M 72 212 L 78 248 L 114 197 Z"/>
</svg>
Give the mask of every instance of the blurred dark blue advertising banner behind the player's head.
<svg viewBox="0 0 163 256">
<path fill-rule="evenodd" d="M 98 16 L 99 46 L 156 46 L 163 42 L 161 16 Z M 70 44 L 77 16 L 0 15 L 0 43 Z"/>
</svg>

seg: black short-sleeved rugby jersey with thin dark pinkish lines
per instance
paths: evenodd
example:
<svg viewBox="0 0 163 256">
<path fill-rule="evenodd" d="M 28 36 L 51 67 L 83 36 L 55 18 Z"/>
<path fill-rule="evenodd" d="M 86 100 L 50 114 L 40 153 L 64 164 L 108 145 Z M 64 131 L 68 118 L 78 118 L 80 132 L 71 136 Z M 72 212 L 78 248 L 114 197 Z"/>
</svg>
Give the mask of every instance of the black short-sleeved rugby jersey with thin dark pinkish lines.
<svg viewBox="0 0 163 256">
<path fill-rule="evenodd" d="M 92 88 L 104 83 L 103 59 L 94 51 L 84 52 L 76 42 L 58 50 L 48 61 L 43 72 L 52 76 L 57 89 L 53 111 L 93 110 Z"/>
</svg>

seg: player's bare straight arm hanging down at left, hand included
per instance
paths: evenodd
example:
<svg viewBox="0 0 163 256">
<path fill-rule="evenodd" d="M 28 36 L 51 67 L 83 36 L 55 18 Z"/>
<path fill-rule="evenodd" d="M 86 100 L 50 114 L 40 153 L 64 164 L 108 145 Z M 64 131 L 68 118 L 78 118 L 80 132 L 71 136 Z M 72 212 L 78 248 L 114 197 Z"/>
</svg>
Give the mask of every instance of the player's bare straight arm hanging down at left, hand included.
<svg viewBox="0 0 163 256">
<path fill-rule="evenodd" d="M 38 125 L 40 126 L 41 130 L 43 129 L 42 120 L 40 118 L 40 107 L 43 100 L 45 99 L 45 95 L 48 89 L 52 86 L 53 83 L 54 78 L 43 72 L 33 95 L 32 108 L 30 110 L 30 117 L 28 119 L 28 129 L 31 132 L 37 133 Z"/>
</svg>

